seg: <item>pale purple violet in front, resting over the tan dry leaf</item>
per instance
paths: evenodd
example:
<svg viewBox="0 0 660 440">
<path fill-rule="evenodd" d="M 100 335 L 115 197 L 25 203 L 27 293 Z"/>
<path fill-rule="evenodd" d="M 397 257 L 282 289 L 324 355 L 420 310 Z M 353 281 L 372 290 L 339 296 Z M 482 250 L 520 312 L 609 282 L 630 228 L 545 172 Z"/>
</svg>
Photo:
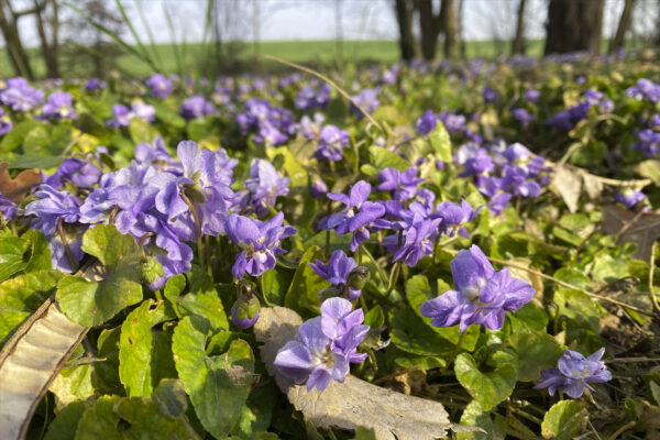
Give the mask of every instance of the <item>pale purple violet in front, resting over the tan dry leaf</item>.
<svg viewBox="0 0 660 440">
<path fill-rule="evenodd" d="M 296 384 L 307 384 L 307 391 L 322 392 L 331 380 L 344 382 L 350 364 L 367 356 L 358 353 L 370 329 L 363 321 L 362 309 L 353 310 L 348 299 L 328 298 L 321 316 L 298 327 L 296 339 L 279 349 L 274 364 Z"/>
</svg>

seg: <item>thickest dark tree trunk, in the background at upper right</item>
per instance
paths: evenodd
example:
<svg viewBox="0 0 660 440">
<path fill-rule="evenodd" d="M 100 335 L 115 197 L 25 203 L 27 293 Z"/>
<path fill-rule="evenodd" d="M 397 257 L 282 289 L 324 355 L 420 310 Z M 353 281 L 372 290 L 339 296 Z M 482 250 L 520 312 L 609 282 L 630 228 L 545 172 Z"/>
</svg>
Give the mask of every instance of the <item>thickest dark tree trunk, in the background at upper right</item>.
<svg viewBox="0 0 660 440">
<path fill-rule="evenodd" d="M 605 0 L 550 0 L 546 55 L 574 51 L 601 53 Z"/>
</svg>

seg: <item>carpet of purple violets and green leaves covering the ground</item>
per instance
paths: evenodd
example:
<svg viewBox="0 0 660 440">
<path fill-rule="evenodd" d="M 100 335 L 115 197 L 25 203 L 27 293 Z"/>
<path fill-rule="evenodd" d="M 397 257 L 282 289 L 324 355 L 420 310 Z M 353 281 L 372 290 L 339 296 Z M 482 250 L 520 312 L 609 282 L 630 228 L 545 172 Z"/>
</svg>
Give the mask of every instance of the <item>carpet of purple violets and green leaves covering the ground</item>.
<svg viewBox="0 0 660 440">
<path fill-rule="evenodd" d="M 28 437 L 658 436 L 659 82 L 622 52 L 2 80 L 0 340 L 52 295 L 89 328 Z"/>
</svg>

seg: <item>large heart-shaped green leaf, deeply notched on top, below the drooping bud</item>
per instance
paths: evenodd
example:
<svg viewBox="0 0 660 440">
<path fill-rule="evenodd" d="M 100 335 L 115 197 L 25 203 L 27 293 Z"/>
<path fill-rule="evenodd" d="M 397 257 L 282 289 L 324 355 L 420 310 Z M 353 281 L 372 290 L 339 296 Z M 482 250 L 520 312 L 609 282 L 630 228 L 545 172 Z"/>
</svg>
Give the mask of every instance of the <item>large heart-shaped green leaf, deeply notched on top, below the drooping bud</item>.
<svg viewBox="0 0 660 440">
<path fill-rule="evenodd" d="M 210 336 L 207 320 L 182 319 L 173 340 L 174 360 L 186 393 L 201 425 L 217 439 L 226 439 L 237 426 L 250 394 L 254 358 L 243 340 L 232 341 L 227 353 L 206 354 Z"/>
</svg>

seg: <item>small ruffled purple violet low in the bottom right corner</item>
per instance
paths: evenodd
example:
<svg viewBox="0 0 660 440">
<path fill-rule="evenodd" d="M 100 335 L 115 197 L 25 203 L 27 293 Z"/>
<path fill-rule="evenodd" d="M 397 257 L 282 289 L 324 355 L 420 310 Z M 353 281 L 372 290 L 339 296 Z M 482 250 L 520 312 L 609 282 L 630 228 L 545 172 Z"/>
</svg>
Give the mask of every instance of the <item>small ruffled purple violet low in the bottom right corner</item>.
<svg viewBox="0 0 660 440">
<path fill-rule="evenodd" d="M 541 382 L 535 388 L 548 388 L 548 393 L 554 396 L 557 391 L 565 393 L 572 398 L 579 398 L 584 393 L 584 388 L 594 391 L 588 384 L 602 384 L 612 380 L 612 373 L 601 361 L 605 349 L 594 352 L 588 358 L 572 350 L 564 350 L 564 354 L 559 358 L 557 369 L 541 371 Z"/>
</svg>

